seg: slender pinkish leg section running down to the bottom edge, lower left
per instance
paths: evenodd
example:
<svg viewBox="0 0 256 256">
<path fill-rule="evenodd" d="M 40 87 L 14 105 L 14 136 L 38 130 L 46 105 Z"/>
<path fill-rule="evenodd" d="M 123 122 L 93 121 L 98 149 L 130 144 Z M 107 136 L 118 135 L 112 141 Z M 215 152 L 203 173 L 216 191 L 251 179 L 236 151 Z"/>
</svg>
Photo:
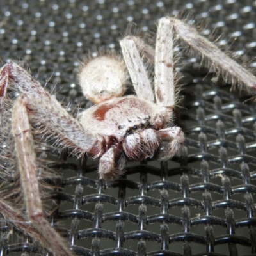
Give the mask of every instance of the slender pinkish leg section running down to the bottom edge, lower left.
<svg viewBox="0 0 256 256">
<path fill-rule="evenodd" d="M 36 177 L 37 168 L 36 156 L 33 150 L 33 136 L 29 124 L 28 109 L 26 104 L 22 102 L 22 99 L 24 97 L 19 97 L 13 105 L 12 133 L 15 138 L 15 150 L 26 211 L 29 220 L 44 237 L 45 241 L 47 241 L 52 252 L 56 253 L 56 255 L 72 255 L 63 237 L 44 218 Z"/>
</svg>

